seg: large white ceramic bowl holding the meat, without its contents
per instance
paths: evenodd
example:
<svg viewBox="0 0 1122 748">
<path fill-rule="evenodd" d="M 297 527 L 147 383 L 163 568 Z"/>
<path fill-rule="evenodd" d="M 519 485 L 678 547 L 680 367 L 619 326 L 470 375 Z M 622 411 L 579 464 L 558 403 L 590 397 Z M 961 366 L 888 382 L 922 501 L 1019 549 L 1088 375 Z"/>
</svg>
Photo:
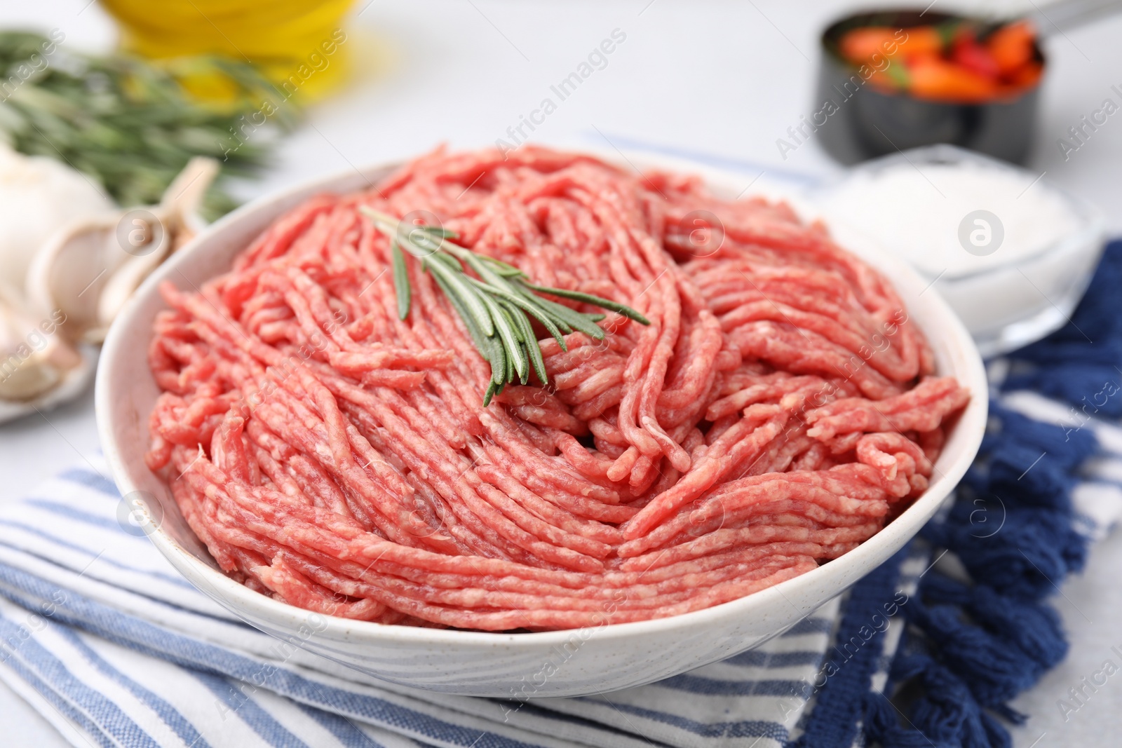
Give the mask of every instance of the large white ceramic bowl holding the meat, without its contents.
<svg viewBox="0 0 1122 748">
<path fill-rule="evenodd" d="M 666 158 L 634 156 L 701 174 L 735 196 L 745 179 Z M 227 215 L 177 252 L 140 287 L 105 340 L 96 384 L 102 447 L 122 496 L 140 491 L 154 518 L 153 543 L 192 583 L 252 626 L 377 678 L 476 696 L 572 696 L 651 683 L 758 646 L 834 598 L 894 552 L 931 518 L 966 471 L 985 427 L 986 381 L 969 334 L 938 294 L 904 264 L 857 238 L 838 237 L 894 284 L 935 349 L 940 373 L 969 388 L 972 400 L 936 463 L 930 488 L 877 535 L 840 558 L 746 598 L 696 612 L 595 629 L 488 634 L 325 618 L 310 632 L 305 610 L 250 591 L 218 571 L 184 523 L 164 480 L 148 471 L 148 414 L 158 390 L 148 370 L 153 318 L 165 308 L 156 286 L 199 286 L 226 270 L 274 219 L 312 194 L 349 192 L 377 182 L 390 167 L 349 172 L 258 200 Z M 758 192 L 758 191 L 757 191 Z M 798 206 L 797 206 L 798 207 Z M 800 212 L 809 211 L 802 207 Z M 559 653 L 563 653 L 559 654 Z M 553 663 L 553 665 L 550 665 Z M 554 666 L 557 672 L 549 673 Z M 545 673 L 549 673 L 545 675 Z"/>
</svg>

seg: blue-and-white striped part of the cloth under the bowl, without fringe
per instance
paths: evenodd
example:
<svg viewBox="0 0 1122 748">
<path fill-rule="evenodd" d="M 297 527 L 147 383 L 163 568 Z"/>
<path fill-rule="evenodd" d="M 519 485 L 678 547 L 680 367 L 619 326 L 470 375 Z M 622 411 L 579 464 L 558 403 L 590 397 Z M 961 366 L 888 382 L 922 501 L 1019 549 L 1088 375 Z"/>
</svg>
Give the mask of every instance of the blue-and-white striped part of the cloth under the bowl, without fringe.
<svg viewBox="0 0 1122 748">
<path fill-rule="evenodd" d="M 77 746 L 772 748 L 798 733 L 838 618 L 835 600 L 758 649 L 605 696 L 438 695 L 232 618 L 126 532 L 105 475 L 92 460 L 0 509 L 0 678 Z"/>
</svg>

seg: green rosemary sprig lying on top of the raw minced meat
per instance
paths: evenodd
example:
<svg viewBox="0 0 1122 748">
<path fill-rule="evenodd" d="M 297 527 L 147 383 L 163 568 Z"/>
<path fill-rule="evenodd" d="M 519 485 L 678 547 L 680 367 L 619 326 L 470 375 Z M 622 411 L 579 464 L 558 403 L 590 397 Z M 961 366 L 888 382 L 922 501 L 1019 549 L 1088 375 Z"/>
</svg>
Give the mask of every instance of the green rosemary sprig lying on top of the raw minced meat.
<svg viewBox="0 0 1122 748">
<path fill-rule="evenodd" d="M 403 249 L 421 260 L 422 270 L 432 275 L 452 308 L 460 315 L 479 353 L 490 363 L 491 378 L 484 394 L 484 407 L 515 379 L 525 385 L 530 380 L 531 369 L 542 385 L 549 384 L 545 359 L 534 333 L 532 318 L 541 323 L 563 351 L 569 350 L 564 335 L 574 330 L 596 340 L 604 340 L 604 329 L 596 324 L 604 318 L 603 314 L 578 312 L 539 294 L 599 306 L 640 324 L 651 324 L 646 317 L 624 304 L 577 290 L 533 284 L 513 265 L 453 243 L 450 241 L 457 238 L 453 231 L 439 227 L 407 225 L 393 215 L 366 205 L 359 210 L 374 221 L 375 228 L 389 237 L 397 316 L 402 320 L 408 316 L 412 299 Z M 475 276 L 468 275 L 465 266 Z"/>
</svg>

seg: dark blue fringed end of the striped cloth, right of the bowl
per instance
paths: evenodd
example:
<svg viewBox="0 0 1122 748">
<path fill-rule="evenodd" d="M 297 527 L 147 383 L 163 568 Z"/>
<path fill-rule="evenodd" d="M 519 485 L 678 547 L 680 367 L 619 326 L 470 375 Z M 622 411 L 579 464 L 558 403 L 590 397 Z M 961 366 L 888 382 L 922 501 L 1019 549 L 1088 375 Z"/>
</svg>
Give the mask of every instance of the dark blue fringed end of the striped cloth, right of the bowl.
<svg viewBox="0 0 1122 748">
<path fill-rule="evenodd" d="M 1067 654 L 1049 599 L 1122 516 L 1122 241 L 1107 246 L 1069 323 L 990 362 L 990 424 L 949 511 L 862 580 L 837 641 L 896 600 L 907 626 L 850 661 L 835 644 L 793 745 L 1011 745 L 1008 704 Z M 920 578 L 909 555 L 930 557 Z M 902 602 L 902 599 L 907 602 Z M 866 677 L 870 663 L 881 673 Z"/>
</svg>

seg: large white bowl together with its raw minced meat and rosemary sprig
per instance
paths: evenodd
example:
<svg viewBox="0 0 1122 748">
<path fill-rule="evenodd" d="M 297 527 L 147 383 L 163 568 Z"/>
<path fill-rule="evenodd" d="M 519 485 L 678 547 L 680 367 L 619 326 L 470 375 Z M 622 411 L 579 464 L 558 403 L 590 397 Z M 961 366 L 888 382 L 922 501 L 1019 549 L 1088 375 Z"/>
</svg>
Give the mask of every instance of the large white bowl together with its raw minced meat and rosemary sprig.
<svg viewBox="0 0 1122 748">
<path fill-rule="evenodd" d="M 571 696 L 751 649 L 916 535 L 987 397 L 934 288 L 744 182 L 438 149 L 246 205 L 109 333 L 118 488 L 220 604 L 376 678 Z"/>
</svg>

